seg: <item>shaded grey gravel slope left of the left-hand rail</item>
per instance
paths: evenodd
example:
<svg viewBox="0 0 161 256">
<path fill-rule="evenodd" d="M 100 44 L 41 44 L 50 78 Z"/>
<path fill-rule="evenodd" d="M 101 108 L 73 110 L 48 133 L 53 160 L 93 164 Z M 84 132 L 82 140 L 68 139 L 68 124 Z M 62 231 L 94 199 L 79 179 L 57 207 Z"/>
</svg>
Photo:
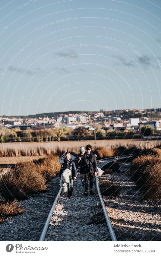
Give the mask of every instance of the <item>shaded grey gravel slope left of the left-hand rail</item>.
<svg viewBox="0 0 161 256">
<path fill-rule="evenodd" d="M 25 211 L 0 223 L 1 241 L 39 241 L 50 208 L 59 191 L 58 178 L 49 183 L 49 191 L 29 195 L 19 202 Z"/>
</svg>

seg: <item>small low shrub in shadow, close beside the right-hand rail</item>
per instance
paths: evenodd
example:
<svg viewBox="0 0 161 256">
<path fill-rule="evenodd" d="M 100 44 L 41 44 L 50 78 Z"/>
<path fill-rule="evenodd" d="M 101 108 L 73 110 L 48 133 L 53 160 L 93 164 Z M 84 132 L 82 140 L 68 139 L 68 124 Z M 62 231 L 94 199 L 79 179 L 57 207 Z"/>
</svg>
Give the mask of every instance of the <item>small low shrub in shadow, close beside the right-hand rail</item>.
<svg viewBox="0 0 161 256">
<path fill-rule="evenodd" d="M 114 181 L 99 180 L 99 187 L 101 194 L 104 196 L 116 196 L 119 194 L 120 186 L 116 185 Z"/>
</svg>

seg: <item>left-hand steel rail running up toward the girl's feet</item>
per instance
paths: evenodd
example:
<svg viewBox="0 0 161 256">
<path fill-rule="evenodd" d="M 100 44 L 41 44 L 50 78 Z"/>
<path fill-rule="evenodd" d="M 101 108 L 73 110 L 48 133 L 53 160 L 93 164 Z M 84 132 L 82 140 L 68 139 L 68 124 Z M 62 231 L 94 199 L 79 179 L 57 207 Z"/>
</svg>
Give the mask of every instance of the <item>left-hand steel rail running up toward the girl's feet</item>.
<svg viewBox="0 0 161 256">
<path fill-rule="evenodd" d="M 50 223 L 50 220 L 51 220 L 51 218 L 52 218 L 53 211 L 55 210 L 55 206 L 56 206 L 56 204 L 57 204 L 57 202 L 58 202 L 58 199 L 59 199 L 59 196 L 60 196 L 61 191 L 62 191 L 62 188 L 59 189 L 59 192 L 58 192 L 58 194 L 57 194 L 57 196 L 56 196 L 56 198 L 55 198 L 55 200 L 54 200 L 54 203 L 53 203 L 53 205 L 52 205 L 52 208 L 50 209 L 49 215 L 48 215 L 48 217 L 47 217 L 47 219 L 46 219 L 46 222 L 45 222 L 45 225 L 44 225 L 44 228 L 43 228 L 43 231 L 42 231 L 42 233 L 41 233 L 41 236 L 40 236 L 39 241 L 44 241 L 44 239 L 45 239 L 45 235 L 46 235 L 46 232 L 47 232 L 47 230 L 48 230 L 49 223 Z"/>
</svg>

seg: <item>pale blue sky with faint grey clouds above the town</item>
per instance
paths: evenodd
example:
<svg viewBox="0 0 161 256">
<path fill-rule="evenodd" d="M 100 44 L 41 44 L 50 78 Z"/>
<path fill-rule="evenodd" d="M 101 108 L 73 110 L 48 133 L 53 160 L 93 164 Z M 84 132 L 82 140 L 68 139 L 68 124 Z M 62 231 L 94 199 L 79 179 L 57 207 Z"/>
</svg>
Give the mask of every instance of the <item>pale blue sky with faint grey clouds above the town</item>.
<svg viewBox="0 0 161 256">
<path fill-rule="evenodd" d="M 161 2 L 0 2 L 1 115 L 159 108 Z"/>
</svg>

